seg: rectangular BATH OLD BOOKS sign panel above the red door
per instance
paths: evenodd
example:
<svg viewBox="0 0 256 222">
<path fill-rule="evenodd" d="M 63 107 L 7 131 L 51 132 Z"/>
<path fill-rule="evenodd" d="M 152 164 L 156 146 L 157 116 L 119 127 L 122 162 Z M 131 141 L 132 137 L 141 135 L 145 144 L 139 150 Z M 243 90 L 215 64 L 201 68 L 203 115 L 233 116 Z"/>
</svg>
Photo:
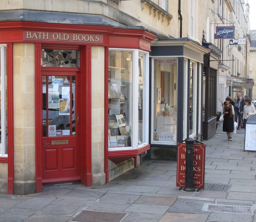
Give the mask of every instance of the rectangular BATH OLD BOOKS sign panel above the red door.
<svg viewBox="0 0 256 222">
<path fill-rule="evenodd" d="M 23 31 L 23 40 L 44 42 L 103 43 L 102 34 L 76 32 Z"/>
</svg>

